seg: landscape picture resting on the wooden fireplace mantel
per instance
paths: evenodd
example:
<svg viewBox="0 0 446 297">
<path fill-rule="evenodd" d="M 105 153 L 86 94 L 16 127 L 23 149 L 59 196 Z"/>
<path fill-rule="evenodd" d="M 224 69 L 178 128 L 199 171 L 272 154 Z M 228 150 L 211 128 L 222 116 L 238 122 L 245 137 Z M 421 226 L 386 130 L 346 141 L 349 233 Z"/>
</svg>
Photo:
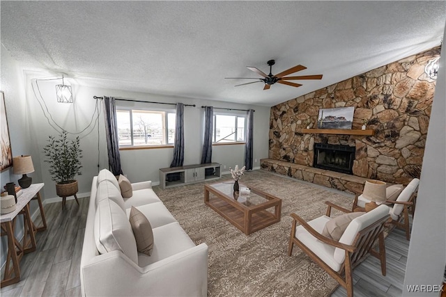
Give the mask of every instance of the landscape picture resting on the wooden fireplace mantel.
<svg viewBox="0 0 446 297">
<path fill-rule="evenodd" d="M 319 129 L 351 129 L 355 107 L 339 107 L 337 109 L 319 109 Z"/>
</svg>

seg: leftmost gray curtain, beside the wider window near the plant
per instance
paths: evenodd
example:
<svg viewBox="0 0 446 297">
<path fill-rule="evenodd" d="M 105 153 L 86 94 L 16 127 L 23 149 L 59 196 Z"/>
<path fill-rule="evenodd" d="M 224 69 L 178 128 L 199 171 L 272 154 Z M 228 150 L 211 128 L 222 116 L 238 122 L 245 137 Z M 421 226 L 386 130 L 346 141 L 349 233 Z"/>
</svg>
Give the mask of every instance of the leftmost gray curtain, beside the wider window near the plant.
<svg viewBox="0 0 446 297">
<path fill-rule="evenodd" d="M 116 122 L 116 105 L 114 97 L 104 96 L 104 109 L 109 169 L 114 175 L 121 175 L 123 174 L 123 170 L 121 169 L 121 156 L 119 154 L 118 124 Z"/>
</svg>

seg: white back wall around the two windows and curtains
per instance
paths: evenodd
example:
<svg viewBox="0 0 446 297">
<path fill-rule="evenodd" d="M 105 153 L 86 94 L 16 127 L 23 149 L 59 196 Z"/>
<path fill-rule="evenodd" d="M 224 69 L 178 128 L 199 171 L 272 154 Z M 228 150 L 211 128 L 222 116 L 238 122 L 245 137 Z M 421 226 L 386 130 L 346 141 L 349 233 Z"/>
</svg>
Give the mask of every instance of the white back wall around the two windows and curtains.
<svg viewBox="0 0 446 297">
<path fill-rule="evenodd" d="M 40 74 L 41 76 L 41 74 Z M 29 72 L 27 81 L 33 77 L 37 77 L 35 72 Z M 66 79 L 66 81 L 70 81 Z M 259 167 L 260 159 L 268 157 L 268 128 L 269 128 L 269 107 L 265 106 L 249 106 L 244 104 L 233 104 L 228 102 L 215 102 L 203 99 L 190 99 L 184 97 L 166 97 L 161 95 L 151 95 L 147 93 L 126 92 L 122 90 L 107 90 L 103 88 L 92 88 L 86 86 L 79 86 L 76 81 L 71 80 L 73 93 L 75 99 L 73 104 L 56 103 L 55 85 L 61 81 L 39 81 L 38 86 L 43 100 L 36 92 L 36 84 L 33 82 L 34 90 L 31 84 L 27 87 L 26 100 L 27 105 L 33 110 L 30 116 L 30 125 L 32 134 L 36 135 L 36 158 L 33 156 L 33 161 L 40 162 L 42 168 L 43 182 L 45 182 L 45 198 L 56 198 L 56 191 L 54 182 L 47 174 L 48 164 L 44 161 L 45 154 L 43 147 L 45 147 L 49 135 L 57 135 L 55 129 L 49 125 L 47 118 L 45 118 L 43 109 L 40 104 L 46 103 L 47 117 L 52 115 L 54 122 L 63 127 L 67 131 L 76 132 L 81 131 L 91 120 L 93 111 L 95 110 L 96 100 L 93 96 L 98 97 L 114 96 L 127 99 L 137 99 L 151 102 L 183 102 L 184 104 L 195 104 L 196 107 L 185 106 L 185 161 L 184 164 L 200 163 L 201 150 L 203 143 L 203 117 L 204 110 L 201 109 L 203 105 L 214 107 L 233 108 L 233 109 L 255 109 L 254 113 L 254 168 Z M 36 92 L 36 95 L 34 93 Z M 40 103 L 39 103 L 40 102 Z M 99 118 L 99 125 L 94 129 L 87 129 L 82 134 L 81 147 L 84 151 L 84 158 L 82 159 L 82 176 L 77 177 L 79 182 L 79 196 L 88 195 L 91 187 L 91 179 L 97 175 L 98 168 L 108 168 L 107 149 L 105 141 L 105 122 L 102 112 L 102 101 L 99 102 L 101 106 L 101 115 Z M 144 107 L 153 109 L 173 109 L 175 106 L 138 103 L 138 102 L 116 102 L 124 106 Z M 241 112 L 245 113 L 245 112 Z M 50 122 L 52 122 L 50 120 Z M 54 123 L 52 123 L 54 126 Z M 99 129 L 99 131 L 98 131 Z M 89 133 L 91 132 L 91 133 Z M 99 137 L 98 137 L 99 135 Z M 98 149 L 99 147 L 99 149 Z M 169 167 L 172 161 L 173 148 L 153 148 L 147 150 L 122 150 L 121 151 L 121 166 L 123 172 L 128 176 L 131 182 L 141 182 L 144 180 L 152 180 L 154 183 L 159 182 L 159 168 Z M 226 166 L 226 171 L 229 167 L 236 164 L 244 163 L 244 146 L 243 145 L 219 145 L 213 147 L 213 161 L 222 163 Z M 98 167 L 99 165 L 99 167 Z M 225 171 L 223 169 L 223 171 Z"/>
</svg>

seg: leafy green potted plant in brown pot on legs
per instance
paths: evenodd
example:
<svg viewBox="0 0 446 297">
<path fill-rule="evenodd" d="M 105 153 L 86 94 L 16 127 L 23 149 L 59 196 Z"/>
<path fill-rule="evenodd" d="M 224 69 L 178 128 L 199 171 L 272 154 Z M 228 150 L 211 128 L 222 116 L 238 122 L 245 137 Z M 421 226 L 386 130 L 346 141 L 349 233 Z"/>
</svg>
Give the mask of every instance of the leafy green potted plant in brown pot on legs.
<svg viewBox="0 0 446 297">
<path fill-rule="evenodd" d="M 45 162 L 49 163 L 49 174 L 56 182 L 56 193 L 63 198 L 74 195 L 78 191 L 76 175 L 82 175 L 79 136 L 75 140 L 67 138 L 67 132 L 63 131 L 59 138 L 49 136 L 45 146 Z M 79 202 L 77 202 L 79 204 Z"/>
</svg>

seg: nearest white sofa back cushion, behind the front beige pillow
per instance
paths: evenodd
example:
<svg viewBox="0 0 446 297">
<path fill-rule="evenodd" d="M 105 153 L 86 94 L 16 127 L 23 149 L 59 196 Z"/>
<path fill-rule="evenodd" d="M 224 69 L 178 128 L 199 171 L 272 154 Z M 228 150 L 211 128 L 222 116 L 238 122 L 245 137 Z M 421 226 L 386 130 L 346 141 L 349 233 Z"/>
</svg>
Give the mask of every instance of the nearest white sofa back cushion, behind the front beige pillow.
<svg viewBox="0 0 446 297">
<path fill-rule="evenodd" d="M 138 263 L 137 243 L 132 226 L 121 207 L 112 200 L 103 199 L 99 202 L 94 234 L 96 248 L 101 254 L 121 250 L 133 262 Z"/>
</svg>

